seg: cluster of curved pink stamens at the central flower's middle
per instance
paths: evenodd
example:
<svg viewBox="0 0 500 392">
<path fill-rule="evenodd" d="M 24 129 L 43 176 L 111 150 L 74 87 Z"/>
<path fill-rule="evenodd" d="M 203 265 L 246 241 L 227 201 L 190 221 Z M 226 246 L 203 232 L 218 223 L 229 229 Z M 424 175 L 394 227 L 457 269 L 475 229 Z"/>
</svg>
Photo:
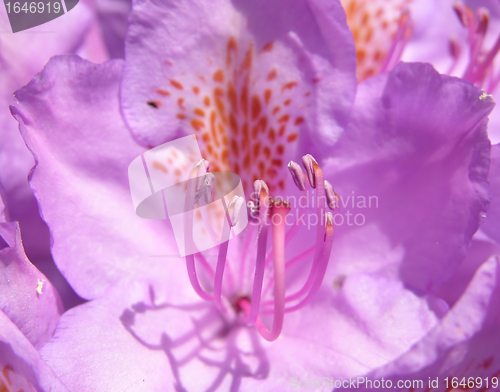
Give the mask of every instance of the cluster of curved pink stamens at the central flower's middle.
<svg viewBox="0 0 500 392">
<path fill-rule="evenodd" d="M 239 211 L 243 208 L 243 199 L 235 196 L 227 205 L 224 202 L 226 217 L 215 266 L 201 252 L 186 256 L 189 279 L 198 295 L 213 301 L 223 314 L 236 311 L 245 324 L 255 325 L 268 341 L 279 337 L 285 313 L 301 309 L 315 296 L 325 276 L 333 244 L 333 216 L 331 212 L 326 212 L 326 207 L 334 209 L 337 206 L 336 194 L 324 180 L 323 172 L 312 156 L 305 155 L 302 163 L 306 173 L 295 162 L 290 162 L 288 167 L 297 188 L 303 192 L 301 197 L 309 201 L 306 207 L 301 203 L 300 209 L 309 209 L 310 205 L 314 211 L 314 214 L 308 214 L 309 228 L 311 216 L 315 217 L 316 235 L 312 246 L 287 260 L 286 249 L 292 244 L 294 236 L 301 229 L 305 230 L 305 220 L 299 214 L 294 218 L 290 213 L 297 207 L 293 205 L 296 204 L 295 197 L 294 202 L 281 197 L 272 198 L 268 185 L 257 180 L 252 200 L 246 206 L 251 223 L 245 230 L 244 240 L 240 237 L 229 240 L 231 228 L 236 225 Z M 208 170 L 208 162 L 202 160 L 195 165 L 191 178 L 199 176 L 200 168 Z M 314 190 L 312 197 L 309 197 L 308 183 Z M 189 210 L 195 204 L 196 195 L 210 194 L 205 185 L 205 188 L 197 189 L 196 184 L 193 181 L 187 187 L 186 206 Z M 255 247 L 253 252 L 252 244 Z M 292 248 L 297 253 L 295 245 Z M 211 291 L 202 288 L 195 258 L 211 280 L 208 284 Z M 305 271 L 307 268 L 308 273 Z M 292 278 L 292 284 L 287 284 L 287 275 Z M 266 324 L 271 324 L 271 327 Z"/>
</svg>

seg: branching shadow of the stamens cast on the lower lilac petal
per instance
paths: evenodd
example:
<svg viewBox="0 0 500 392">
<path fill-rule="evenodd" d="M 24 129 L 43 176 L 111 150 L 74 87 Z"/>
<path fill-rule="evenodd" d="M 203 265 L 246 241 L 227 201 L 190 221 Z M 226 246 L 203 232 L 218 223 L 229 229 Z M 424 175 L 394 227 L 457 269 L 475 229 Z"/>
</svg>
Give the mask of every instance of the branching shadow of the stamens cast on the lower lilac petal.
<svg viewBox="0 0 500 392">
<path fill-rule="evenodd" d="M 176 391 L 216 391 L 226 385 L 239 391 L 243 378 L 268 376 L 269 361 L 255 329 L 237 318 L 227 320 L 211 303 L 156 304 L 151 286 L 149 294 L 153 305 L 137 302 L 120 321 L 144 347 L 165 353 Z M 162 319 L 169 322 L 157 323 L 152 331 L 150 323 Z M 192 380 L 193 374 L 198 380 Z"/>
</svg>

